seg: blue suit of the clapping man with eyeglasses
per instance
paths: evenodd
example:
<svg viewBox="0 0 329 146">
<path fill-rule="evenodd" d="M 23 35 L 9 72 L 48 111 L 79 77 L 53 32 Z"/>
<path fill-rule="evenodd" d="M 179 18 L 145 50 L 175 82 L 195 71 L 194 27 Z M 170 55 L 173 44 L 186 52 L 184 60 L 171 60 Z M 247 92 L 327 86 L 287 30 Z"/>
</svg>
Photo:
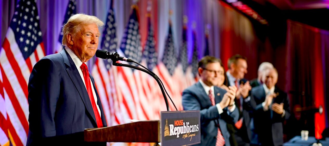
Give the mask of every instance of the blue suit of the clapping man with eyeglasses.
<svg viewBox="0 0 329 146">
<path fill-rule="evenodd" d="M 221 88 L 214 87 L 214 93 L 215 103 L 219 103 L 226 91 Z M 226 107 L 223 109 L 223 113 L 219 114 L 217 107 L 215 105 L 212 106 L 209 96 L 200 82 L 197 82 L 191 87 L 185 89 L 183 91 L 182 100 L 184 110 L 200 110 L 201 143 L 198 145 L 215 146 L 217 125 L 219 125 L 225 139 L 225 145 L 230 146 L 230 134 L 227 131 L 226 123 L 237 122 L 239 118 L 237 108 L 235 108 L 232 113 L 228 114 L 228 109 Z"/>
</svg>

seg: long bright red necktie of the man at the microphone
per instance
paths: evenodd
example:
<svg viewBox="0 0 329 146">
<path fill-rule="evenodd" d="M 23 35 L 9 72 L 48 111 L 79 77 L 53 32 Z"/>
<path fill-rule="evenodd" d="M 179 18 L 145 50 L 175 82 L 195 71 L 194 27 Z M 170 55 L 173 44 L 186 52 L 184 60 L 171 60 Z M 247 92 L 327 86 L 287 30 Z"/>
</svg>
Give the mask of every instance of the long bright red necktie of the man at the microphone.
<svg viewBox="0 0 329 146">
<path fill-rule="evenodd" d="M 88 92 L 88 95 L 89 95 L 89 100 L 91 102 L 91 106 L 92 106 L 92 109 L 94 111 L 94 115 L 95 115 L 95 118 L 96 118 L 97 127 L 102 128 L 103 127 L 102 119 L 101 119 L 101 116 L 99 115 L 99 112 L 98 112 L 98 109 L 97 109 L 97 106 L 96 106 L 96 102 L 95 102 L 95 99 L 94 99 L 94 95 L 92 94 L 92 90 L 91 90 L 88 67 L 85 63 L 82 63 L 82 65 L 80 66 L 80 69 L 82 70 L 83 78 L 85 79 L 86 88 L 87 88 L 87 92 Z"/>
</svg>

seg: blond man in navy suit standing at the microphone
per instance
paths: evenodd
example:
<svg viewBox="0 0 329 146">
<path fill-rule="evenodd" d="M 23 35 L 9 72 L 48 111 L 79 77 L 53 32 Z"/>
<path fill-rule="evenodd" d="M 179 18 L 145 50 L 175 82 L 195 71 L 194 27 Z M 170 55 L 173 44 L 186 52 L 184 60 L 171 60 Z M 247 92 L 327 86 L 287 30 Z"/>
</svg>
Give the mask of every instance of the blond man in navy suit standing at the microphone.
<svg viewBox="0 0 329 146">
<path fill-rule="evenodd" d="M 106 127 L 94 79 L 86 65 L 96 53 L 98 28 L 102 26 L 104 23 L 95 16 L 72 15 L 62 30 L 65 49 L 43 57 L 34 66 L 28 84 L 30 125 L 26 145 L 63 145 L 64 141 L 88 145 L 84 129 Z"/>
</svg>

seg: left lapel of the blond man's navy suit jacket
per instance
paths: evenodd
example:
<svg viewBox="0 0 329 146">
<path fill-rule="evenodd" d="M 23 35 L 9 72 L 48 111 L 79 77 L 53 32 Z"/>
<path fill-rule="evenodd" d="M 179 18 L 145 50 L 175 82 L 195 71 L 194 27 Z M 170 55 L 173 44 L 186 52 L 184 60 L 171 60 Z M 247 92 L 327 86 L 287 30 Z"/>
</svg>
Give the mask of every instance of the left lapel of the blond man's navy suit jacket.
<svg viewBox="0 0 329 146">
<path fill-rule="evenodd" d="M 67 68 L 66 68 L 67 74 L 70 76 L 72 82 L 74 83 L 76 89 L 78 90 L 79 95 L 80 95 L 83 103 L 85 104 L 88 113 L 91 115 L 91 117 L 94 121 L 94 124 L 97 125 L 95 114 L 92 109 L 91 102 L 90 102 L 90 99 L 88 96 L 88 92 L 86 90 L 86 87 L 84 86 L 82 78 L 80 77 L 79 71 L 77 70 L 72 58 L 66 52 L 65 49 L 63 49 L 60 53 L 62 54 L 64 63 L 67 66 Z"/>
</svg>

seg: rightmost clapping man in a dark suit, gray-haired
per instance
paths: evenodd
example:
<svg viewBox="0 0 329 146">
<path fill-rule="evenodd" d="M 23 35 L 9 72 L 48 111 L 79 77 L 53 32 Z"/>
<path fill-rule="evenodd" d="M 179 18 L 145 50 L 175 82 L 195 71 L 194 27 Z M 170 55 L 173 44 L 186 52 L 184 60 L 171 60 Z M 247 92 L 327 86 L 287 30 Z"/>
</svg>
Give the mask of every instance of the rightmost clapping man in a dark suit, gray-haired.
<svg viewBox="0 0 329 146">
<path fill-rule="evenodd" d="M 253 107 L 254 134 L 252 143 L 261 146 L 283 145 L 283 123 L 290 117 L 288 94 L 275 86 L 278 71 L 267 69 L 263 84 L 252 88 L 250 104 Z"/>
</svg>

